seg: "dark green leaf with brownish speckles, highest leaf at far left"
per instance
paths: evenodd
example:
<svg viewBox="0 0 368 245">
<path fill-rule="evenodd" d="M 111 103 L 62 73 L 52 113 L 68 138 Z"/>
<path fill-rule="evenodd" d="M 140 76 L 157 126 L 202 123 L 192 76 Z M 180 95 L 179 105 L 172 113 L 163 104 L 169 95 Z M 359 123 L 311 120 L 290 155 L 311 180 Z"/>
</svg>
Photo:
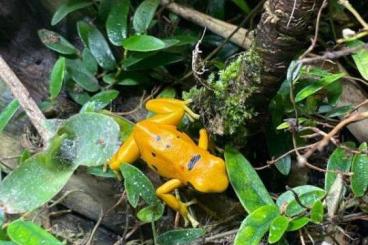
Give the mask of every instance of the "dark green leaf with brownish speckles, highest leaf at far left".
<svg viewBox="0 0 368 245">
<path fill-rule="evenodd" d="M 78 52 L 70 42 L 56 32 L 41 29 L 38 31 L 38 36 L 46 47 L 60 54 L 76 54 Z"/>
</svg>

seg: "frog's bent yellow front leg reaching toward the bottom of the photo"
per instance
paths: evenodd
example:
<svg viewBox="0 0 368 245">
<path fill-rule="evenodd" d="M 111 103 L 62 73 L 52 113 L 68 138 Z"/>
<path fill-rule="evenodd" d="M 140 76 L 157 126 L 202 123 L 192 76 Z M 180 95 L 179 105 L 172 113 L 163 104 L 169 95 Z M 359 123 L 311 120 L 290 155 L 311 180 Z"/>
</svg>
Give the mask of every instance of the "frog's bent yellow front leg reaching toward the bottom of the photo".
<svg viewBox="0 0 368 245">
<path fill-rule="evenodd" d="M 180 199 L 176 198 L 171 192 L 175 189 L 183 186 L 183 183 L 178 179 L 172 179 L 161 185 L 156 190 L 156 195 L 161 198 L 169 207 L 178 211 L 185 219 L 188 220 L 193 227 L 198 226 L 198 222 L 189 214 L 188 204 L 183 203 Z"/>
</svg>

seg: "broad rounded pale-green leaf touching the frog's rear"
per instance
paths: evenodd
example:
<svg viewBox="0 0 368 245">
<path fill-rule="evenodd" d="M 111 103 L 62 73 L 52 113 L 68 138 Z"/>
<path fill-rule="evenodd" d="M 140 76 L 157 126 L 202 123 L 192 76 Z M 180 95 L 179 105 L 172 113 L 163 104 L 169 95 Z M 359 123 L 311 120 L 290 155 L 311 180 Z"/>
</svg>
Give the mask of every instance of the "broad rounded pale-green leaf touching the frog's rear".
<svg viewBox="0 0 368 245">
<path fill-rule="evenodd" d="M 63 144 L 64 157 L 76 165 L 105 164 L 120 145 L 118 124 L 100 113 L 86 112 L 70 117 L 59 129 L 59 134 L 63 132 L 71 136 Z"/>
</svg>

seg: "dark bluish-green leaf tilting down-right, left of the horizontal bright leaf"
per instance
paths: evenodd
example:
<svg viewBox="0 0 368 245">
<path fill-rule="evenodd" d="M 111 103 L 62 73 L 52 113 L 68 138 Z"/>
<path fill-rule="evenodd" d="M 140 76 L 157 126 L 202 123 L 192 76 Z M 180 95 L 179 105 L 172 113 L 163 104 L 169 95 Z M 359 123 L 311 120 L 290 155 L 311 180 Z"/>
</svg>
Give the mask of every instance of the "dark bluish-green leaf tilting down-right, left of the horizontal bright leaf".
<svg viewBox="0 0 368 245">
<path fill-rule="evenodd" d="M 95 27 L 88 33 L 88 47 L 102 68 L 106 70 L 113 70 L 115 68 L 115 57 L 105 37 Z"/>
</svg>

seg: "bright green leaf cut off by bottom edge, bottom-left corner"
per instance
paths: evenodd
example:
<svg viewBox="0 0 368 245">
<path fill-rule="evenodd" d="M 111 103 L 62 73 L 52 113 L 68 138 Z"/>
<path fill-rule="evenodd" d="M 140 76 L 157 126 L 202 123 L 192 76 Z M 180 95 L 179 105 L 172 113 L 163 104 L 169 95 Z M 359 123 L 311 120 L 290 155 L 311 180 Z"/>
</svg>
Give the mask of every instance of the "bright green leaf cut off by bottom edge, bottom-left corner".
<svg viewBox="0 0 368 245">
<path fill-rule="evenodd" d="M 53 235 L 31 221 L 13 221 L 7 231 L 11 240 L 18 245 L 63 245 Z"/>
</svg>

